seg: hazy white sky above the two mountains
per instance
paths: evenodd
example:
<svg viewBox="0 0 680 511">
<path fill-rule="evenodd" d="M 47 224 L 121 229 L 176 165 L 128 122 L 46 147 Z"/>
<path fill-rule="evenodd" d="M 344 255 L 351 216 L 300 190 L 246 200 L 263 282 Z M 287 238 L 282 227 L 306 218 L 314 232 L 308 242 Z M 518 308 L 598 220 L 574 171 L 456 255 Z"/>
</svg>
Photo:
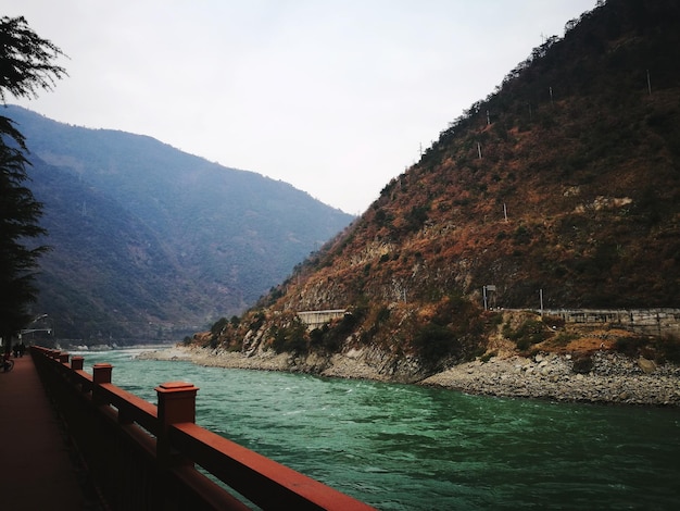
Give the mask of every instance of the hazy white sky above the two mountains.
<svg viewBox="0 0 680 511">
<path fill-rule="evenodd" d="M 70 76 L 16 101 L 362 213 L 595 0 L 3 0 Z"/>
</svg>

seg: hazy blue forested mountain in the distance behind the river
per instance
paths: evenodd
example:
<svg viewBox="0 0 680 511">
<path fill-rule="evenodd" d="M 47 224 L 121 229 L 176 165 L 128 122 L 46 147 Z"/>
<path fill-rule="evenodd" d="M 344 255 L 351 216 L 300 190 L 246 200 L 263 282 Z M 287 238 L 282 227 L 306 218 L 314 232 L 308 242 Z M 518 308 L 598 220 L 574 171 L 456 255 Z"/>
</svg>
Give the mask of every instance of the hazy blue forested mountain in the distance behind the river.
<svg viewBox="0 0 680 511">
<path fill-rule="evenodd" d="M 241 313 L 352 216 L 153 138 L 8 107 L 45 204 L 37 313 L 61 338 L 177 338 Z"/>
</svg>

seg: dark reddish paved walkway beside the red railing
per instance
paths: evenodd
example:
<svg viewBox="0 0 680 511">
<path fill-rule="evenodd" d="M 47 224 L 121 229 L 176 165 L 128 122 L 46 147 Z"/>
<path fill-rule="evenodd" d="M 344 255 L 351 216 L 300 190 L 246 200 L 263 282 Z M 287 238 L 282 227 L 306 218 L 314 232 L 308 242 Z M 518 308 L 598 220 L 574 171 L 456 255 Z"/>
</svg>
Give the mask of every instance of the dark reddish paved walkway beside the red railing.
<svg viewBox="0 0 680 511">
<path fill-rule="evenodd" d="M 30 356 L 0 372 L 0 508 L 100 510 L 84 491 L 65 435 Z"/>
</svg>

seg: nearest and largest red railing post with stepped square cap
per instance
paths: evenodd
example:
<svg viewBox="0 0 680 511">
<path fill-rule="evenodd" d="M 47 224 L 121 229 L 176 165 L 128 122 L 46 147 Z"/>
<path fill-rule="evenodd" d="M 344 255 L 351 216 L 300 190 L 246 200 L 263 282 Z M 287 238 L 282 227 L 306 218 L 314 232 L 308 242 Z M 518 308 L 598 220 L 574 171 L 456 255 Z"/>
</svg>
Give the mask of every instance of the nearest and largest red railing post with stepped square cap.
<svg viewBox="0 0 680 511">
<path fill-rule="evenodd" d="M 168 431 L 172 424 L 196 422 L 196 392 L 198 387 L 186 382 L 167 382 L 155 388 L 159 406 L 159 431 L 156 441 L 158 461 L 163 466 L 172 463 Z M 181 463 L 181 460 L 175 460 Z"/>
</svg>

